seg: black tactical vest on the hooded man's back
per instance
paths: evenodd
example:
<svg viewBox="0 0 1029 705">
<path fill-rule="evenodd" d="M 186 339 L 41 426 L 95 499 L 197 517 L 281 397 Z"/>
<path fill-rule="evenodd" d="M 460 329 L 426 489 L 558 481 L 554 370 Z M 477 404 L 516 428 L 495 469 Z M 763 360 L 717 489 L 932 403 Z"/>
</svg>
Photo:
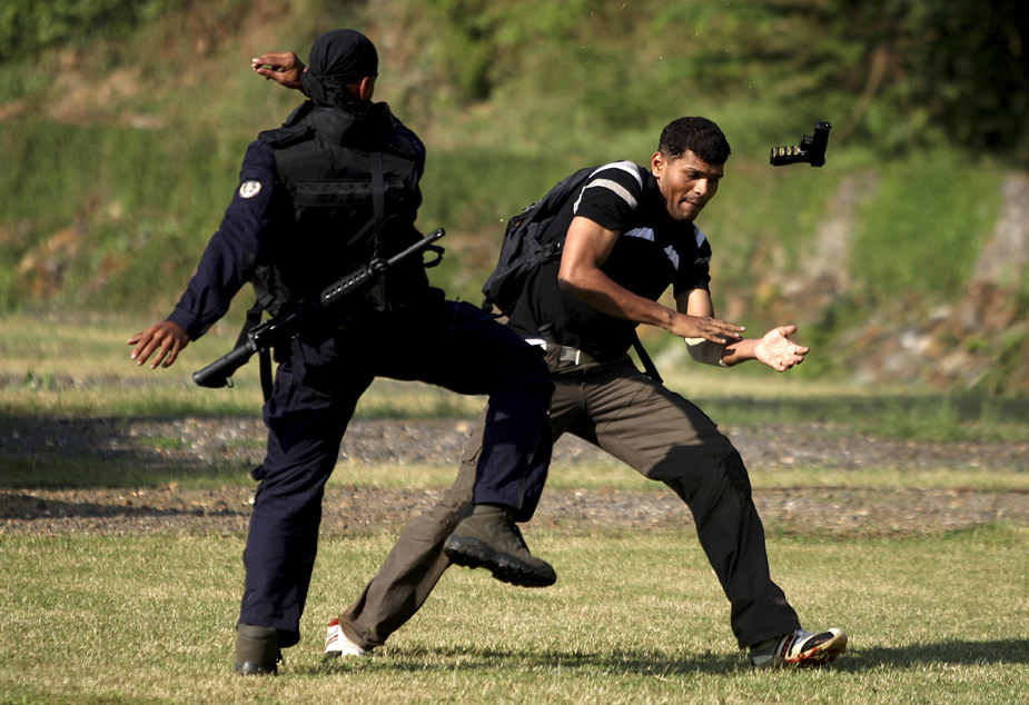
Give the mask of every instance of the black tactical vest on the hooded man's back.
<svg viewBox="0 0 1029 705">
<path fill-rule="evenodd" d="M 353 112 L 308 101 L 281 128 L 258 136 L 275 150 L 289 195 L 284 210 L 291 211 L 254 280 L 258 302 L 273 316 L 420 237 L 413 224 L 422 202 L 422 142 L 386 103 L 348 108 Z M 348 308 L 384 310 L 389 299 L 427 286 L 420 266 L 398 268 Z"/>
</svg>

